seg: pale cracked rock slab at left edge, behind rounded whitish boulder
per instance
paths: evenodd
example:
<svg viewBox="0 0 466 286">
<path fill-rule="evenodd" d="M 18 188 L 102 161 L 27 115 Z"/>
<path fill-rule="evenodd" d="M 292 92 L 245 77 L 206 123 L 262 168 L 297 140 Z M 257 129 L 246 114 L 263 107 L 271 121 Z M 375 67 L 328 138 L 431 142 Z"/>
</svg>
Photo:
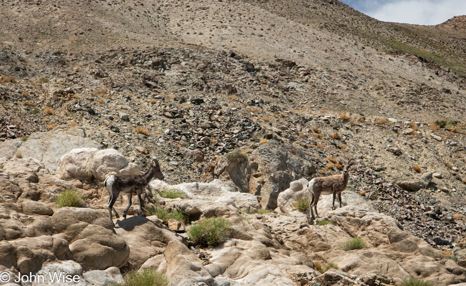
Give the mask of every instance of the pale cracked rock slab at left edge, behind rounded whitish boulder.
<svg viewBox="0 0 466 286">
<path fill-rule="evenodd" d="M 87 137 L 84 129 L 63 125 L 48 132 L 32 133 L 24 142 L 20 139 L 0 142 L 0 156 L 10 159 L 21 154 L 23 158 L 34 158 L 54 174 L 63 155 L 83 147 L 101 149 L 99 143 Z"/>
</svg>

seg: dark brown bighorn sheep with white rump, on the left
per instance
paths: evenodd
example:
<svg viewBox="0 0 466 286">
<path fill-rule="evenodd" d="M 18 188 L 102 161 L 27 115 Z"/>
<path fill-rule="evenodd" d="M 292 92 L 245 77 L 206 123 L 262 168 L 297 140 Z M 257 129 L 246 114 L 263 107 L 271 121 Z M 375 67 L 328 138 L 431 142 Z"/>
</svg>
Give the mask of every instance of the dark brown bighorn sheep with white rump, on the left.
<svg viewBox="0 0 466 286">
<path fill-rule="evenodd" d="M 105 179 L 104 186 L 107 188 L 110 195 L 108 198 L 108 218 L 112 223 L 112 210 L 115 213 L 116 218 L 120 218 L 118 212 L 113 208 L 118 196 L 128 196 L 128 207 L 123 212 L 124 218 L 126 218 L 126 213 L 131 206 L 132 195 L 137 195 L 139 200 L 139 213 L 142 216 L 145 216 L 144 211 L 142 210 L 143 201 L 141 199 L 141 194 L 154 177 L 159 180 L 163 180 L 163 174 L 160 171 L 160 165 L 156 159 L 152 160 L 149 170 L 144 175 L 119 174 L 110 175 Z"/>
</svg>

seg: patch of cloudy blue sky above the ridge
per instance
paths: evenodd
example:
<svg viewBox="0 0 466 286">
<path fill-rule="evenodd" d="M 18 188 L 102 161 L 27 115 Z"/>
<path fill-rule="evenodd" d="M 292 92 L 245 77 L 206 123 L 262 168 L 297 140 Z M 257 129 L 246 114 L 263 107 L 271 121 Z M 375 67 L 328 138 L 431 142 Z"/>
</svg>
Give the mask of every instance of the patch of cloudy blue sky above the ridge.
<svg viewBox="0 0 466 286">
<path fill-rule="evenodd" d="M 453 16 L 466 15 L 466 0 L 340 0 L 385 22 L 438 25 Z"/>
</svg>

